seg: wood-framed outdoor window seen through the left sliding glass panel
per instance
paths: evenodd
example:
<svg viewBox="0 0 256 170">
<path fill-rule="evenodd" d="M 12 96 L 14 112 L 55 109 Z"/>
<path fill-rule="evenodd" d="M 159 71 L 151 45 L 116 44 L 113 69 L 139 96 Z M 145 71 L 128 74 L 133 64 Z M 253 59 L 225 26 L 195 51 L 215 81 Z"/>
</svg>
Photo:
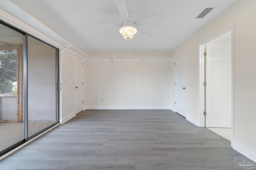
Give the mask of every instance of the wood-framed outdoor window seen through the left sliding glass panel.
<svg viewBox="0 0 256 170">
<path fill-rule="evenodd" d="M 17 112 L 15 119 L 1 121 L 22 122 L 22 106 L 18 103 L 22 101 L 22 45 L 10 45 L 10 47 L 0 46 L 0 97 L 2 102 L 15 98 Z M 8 98 L 4 99 L 4 98 Z"/>
</svg>

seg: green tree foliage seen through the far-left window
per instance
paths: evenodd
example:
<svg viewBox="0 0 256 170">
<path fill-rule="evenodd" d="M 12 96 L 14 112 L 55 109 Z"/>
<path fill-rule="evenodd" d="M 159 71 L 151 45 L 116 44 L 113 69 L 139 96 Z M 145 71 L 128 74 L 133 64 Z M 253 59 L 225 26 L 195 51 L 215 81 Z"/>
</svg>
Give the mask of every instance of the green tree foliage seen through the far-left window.
<svg viewBox="0 0 256 170">
<path fill-rule="evenodd" d="M 17 81 L 17 50 L 0 50 L 0 91 L 12 90 L 13 82 Z"/>
</svg>

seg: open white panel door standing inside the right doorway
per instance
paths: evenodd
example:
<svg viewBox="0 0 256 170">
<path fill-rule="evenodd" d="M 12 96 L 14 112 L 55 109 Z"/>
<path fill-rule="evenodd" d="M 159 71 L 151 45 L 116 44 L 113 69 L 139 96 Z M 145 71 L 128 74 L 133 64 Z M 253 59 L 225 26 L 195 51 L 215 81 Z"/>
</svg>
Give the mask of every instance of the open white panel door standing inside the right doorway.
<svg viewBox="0 0 256 170">
<path fill-rule="evenodd" d="M 231 128 L 231 45 L 206 49 L 206 127 Z"/>
</svg>

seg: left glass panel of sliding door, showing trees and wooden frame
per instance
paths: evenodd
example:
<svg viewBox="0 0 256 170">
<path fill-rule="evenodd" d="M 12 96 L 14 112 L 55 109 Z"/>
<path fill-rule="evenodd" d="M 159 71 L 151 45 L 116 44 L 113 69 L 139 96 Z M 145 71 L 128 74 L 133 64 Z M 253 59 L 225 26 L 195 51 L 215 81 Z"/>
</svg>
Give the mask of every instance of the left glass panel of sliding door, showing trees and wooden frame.
<svg viewBox="0 0 256 170">
<path fill-rule="evenodd" d="M 24 33 L 2 24 L 0 22 L 0 155 L 24 142 Z"/>
</svg>

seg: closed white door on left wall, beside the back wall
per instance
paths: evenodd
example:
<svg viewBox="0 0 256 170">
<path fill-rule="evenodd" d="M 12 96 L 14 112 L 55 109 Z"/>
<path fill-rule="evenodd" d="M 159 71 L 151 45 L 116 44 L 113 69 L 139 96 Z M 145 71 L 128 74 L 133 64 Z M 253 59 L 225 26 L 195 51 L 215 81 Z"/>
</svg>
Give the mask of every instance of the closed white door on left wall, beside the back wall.
<svg viewBox="0 0 256 170">
<path fill-rule="evenodd" d="M 75 114 L 79 113 L 84 108 L 84 68 L 82 59 L 75 57 Z"/>
</svg>

